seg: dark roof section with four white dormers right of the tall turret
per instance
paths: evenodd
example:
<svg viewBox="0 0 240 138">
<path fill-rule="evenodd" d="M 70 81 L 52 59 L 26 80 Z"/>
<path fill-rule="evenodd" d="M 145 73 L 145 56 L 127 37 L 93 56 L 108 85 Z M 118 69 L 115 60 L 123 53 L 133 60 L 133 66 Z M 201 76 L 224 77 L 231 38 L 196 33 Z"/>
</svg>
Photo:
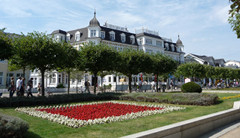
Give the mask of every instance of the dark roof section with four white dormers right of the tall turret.
<svg viewBox="0 0 240 138">
<path fill-rule="evenodd" d="M 132 45 L 136 45 L 136 46 L 138 45 L 138 44 L 137 44 L 136 35 L 135 35 L 134 33 L 125 32 L 125 31 L 121 31 L 121 30 L 116 30 L 116 29 L 112 29 L 112 28 L 107 28 L 107 27 L 105 27 L 105 26 L 100 26 L 100 28 L 101 28 L 101 31 L 104 31 L 104 32 L 105 32 L 105 38 L 102 39 L 102 40 L 112 41 L 112 40 L 110 40 L 110 34 L 109 34 L 109 32 L 114 31 L 114 32 L 115 32 L 115 40 L 114 40 L 113 42 L 125 43 L 125 44 L 132 44 L 132 43 L 130 42 L 130 36 L 133 35 L 133 36 L 134 36 L 134 39 L 135 39 L 135 43 L 132 44 Z M 126 35 L 126 41 L 125 41 L 125 42 L 122 42 L 122 41 L 121 41 L 121 35 L 120 35 L 120 34 L 122 34 L 122 33 L 124 33 L 124 34 Z"/>
</svg>

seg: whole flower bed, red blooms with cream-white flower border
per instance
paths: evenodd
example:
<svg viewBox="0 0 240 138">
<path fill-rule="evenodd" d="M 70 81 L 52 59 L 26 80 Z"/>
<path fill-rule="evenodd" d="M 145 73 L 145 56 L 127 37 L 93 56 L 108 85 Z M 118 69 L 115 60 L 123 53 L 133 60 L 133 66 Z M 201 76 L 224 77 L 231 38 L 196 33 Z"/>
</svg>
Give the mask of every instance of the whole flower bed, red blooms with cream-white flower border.
<svg viewBox="0 0 240 138">
<path fill-rule="evenodd" d="M 181 109 L 185 108 L 117 101 L 16 108 L 17 111 L 27 113 L 31 116 L 48 119 L 74 128 L 134 119 Z"/>
</svg>

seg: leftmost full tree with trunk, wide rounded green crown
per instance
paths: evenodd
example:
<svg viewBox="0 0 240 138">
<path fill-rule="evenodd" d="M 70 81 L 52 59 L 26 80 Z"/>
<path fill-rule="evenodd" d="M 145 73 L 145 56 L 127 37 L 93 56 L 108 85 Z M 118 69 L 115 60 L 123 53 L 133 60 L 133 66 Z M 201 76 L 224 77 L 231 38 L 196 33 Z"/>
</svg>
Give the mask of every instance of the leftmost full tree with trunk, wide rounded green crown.
<svg viewBox="0 0 240 138">
<path fill-rule="evenodd" d="M 21 41 L 19 49 L 22 50 L 19 56 L 31 69 L 38 69 L 42 76 L 42 96 L 44 91 L 44 74 L 47 70 L 57 69 L 57 63 L 62 60 L 61 46 L 53 38 L 45 33 L 33 32 L 26 36 L 19 36 L 17 41 Z"/>
</svg>

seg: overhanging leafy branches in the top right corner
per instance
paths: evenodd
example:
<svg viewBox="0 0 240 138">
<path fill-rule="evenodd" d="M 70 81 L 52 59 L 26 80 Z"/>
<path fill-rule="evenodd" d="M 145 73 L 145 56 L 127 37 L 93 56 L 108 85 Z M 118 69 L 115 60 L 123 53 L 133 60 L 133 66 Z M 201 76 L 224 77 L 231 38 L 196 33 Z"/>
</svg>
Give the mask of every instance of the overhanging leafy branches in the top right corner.
<svg viewBox="0 0 240 138">
<path fill-rule="evenodd" d="M 228 21 L 232 26 L 233 31 L 236 32 L 237 38 L 240 38 L 240 1 L 229 0 L 231 4 L 231 10 L 229 10 Z"/>
</svg>

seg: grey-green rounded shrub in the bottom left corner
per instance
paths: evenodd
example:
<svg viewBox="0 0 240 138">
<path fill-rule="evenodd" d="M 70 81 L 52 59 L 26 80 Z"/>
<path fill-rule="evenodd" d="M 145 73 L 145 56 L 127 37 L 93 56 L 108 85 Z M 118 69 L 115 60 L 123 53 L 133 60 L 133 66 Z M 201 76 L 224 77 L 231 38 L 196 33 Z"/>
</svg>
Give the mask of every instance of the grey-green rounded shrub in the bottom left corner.
<svg viewBox="0 0 240 138">
<path fill-rule="evenodd" d="M 0 137 L 22 138 L 27 132 L 29 125 L 20 118 L 0 114 Z"/>
</svg>

